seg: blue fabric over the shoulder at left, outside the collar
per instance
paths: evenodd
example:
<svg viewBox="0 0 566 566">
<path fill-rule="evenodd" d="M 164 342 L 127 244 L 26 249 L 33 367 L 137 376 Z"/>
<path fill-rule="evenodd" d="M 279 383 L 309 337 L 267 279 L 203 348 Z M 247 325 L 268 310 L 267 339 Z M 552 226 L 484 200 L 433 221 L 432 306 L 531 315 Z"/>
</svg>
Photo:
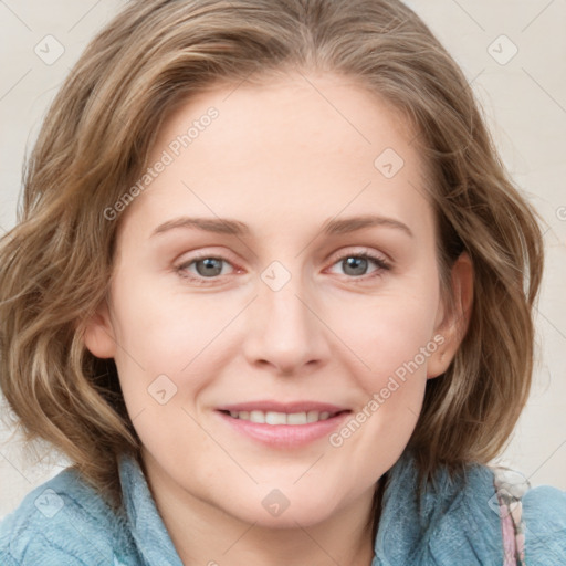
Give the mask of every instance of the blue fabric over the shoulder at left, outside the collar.
<svg viewBox="0 0 566 566">
<path fill-rule="evenodd" d="M 0 523 L 3 566 L 112 565 L 129 546 L 125 520 L 72 468 L 28 493 Z"/>
</svg>

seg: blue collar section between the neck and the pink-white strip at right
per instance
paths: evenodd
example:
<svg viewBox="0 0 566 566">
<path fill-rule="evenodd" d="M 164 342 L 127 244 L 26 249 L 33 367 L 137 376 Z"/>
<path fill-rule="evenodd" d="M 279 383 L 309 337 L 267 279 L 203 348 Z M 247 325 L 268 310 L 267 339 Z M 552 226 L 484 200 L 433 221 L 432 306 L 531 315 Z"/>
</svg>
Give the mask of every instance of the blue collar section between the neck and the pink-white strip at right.
<svg viewBox="0 0 566 566">
<path fill-rule="evenodd" d="M 422 482 L 410 452 L 388 474 L 376 537 L 378 564 L 503 564 L 493 473 L 479 464 Z M 395 533 L 395 535 L 391 535 Z"/>
</svg>

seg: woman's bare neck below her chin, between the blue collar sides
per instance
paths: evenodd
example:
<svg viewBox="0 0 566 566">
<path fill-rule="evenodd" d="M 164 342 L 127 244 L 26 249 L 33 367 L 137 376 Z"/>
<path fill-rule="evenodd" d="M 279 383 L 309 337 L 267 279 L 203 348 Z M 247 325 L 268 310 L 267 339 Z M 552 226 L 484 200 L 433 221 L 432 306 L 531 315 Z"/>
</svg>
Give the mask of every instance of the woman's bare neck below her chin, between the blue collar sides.
<svg viewBox="0 0 566 566">
<path fill-rule="evenodd" d="M 144 468 L 159 514 L 185 566 L 370 566 L 374 494 L 312 525 L 273 528 L 247 523 L 193 496 L 145 454 Z"/>
</svg>

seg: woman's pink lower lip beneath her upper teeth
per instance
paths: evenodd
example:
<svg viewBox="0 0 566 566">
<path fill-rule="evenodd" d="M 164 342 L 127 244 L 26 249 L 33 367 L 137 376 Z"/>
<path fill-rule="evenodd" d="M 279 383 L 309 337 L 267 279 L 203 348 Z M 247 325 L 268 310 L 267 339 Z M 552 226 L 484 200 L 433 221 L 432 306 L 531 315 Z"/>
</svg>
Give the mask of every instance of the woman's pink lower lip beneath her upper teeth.
<svg viewBox="0 0 566 566">
<path fill-rule="evenodd" d="M 243 419 L 234 419 L 226 412 L 218 415 L 234 430 L 249 438 L 275 448 L 297 448 L 325 436 L 329 436 L 343 424 L 349 412 L 340 412 L 335 417 L 306 424 L 264 424 Z"/>
</svg>

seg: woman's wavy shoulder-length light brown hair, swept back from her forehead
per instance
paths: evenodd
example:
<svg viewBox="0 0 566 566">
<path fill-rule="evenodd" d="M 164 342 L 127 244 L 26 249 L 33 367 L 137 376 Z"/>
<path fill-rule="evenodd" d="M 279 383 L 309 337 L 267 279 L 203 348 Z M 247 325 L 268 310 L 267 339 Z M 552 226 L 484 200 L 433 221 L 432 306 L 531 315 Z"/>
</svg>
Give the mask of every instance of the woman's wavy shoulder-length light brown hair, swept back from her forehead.
<svg viewBox="0 0 566 566">
<path fill-rule="evenodd" d="M 428 381 L 409 448 L 423 476 L 505 446 L 533 369 L 543 269 L 536 216 L 497 157 L 473 93 L 427 25 L 395 0 L 144 0 L 90 43 L 55 97 L 0 247 L 0 384 L 29 440 L 66 454 L 120 504 L 117 458 L 139 454 L 113 360 L 83 344 L 106 297 L 119 218 L 160 125 L 219 83 L 296 69 L 355 78 L 418 132 L 438 222 L 440 283 L 462 251 L 473 307 L 452 364 Z M 381 482 L 379 482 L 381 483 Z"/>
</svg>

